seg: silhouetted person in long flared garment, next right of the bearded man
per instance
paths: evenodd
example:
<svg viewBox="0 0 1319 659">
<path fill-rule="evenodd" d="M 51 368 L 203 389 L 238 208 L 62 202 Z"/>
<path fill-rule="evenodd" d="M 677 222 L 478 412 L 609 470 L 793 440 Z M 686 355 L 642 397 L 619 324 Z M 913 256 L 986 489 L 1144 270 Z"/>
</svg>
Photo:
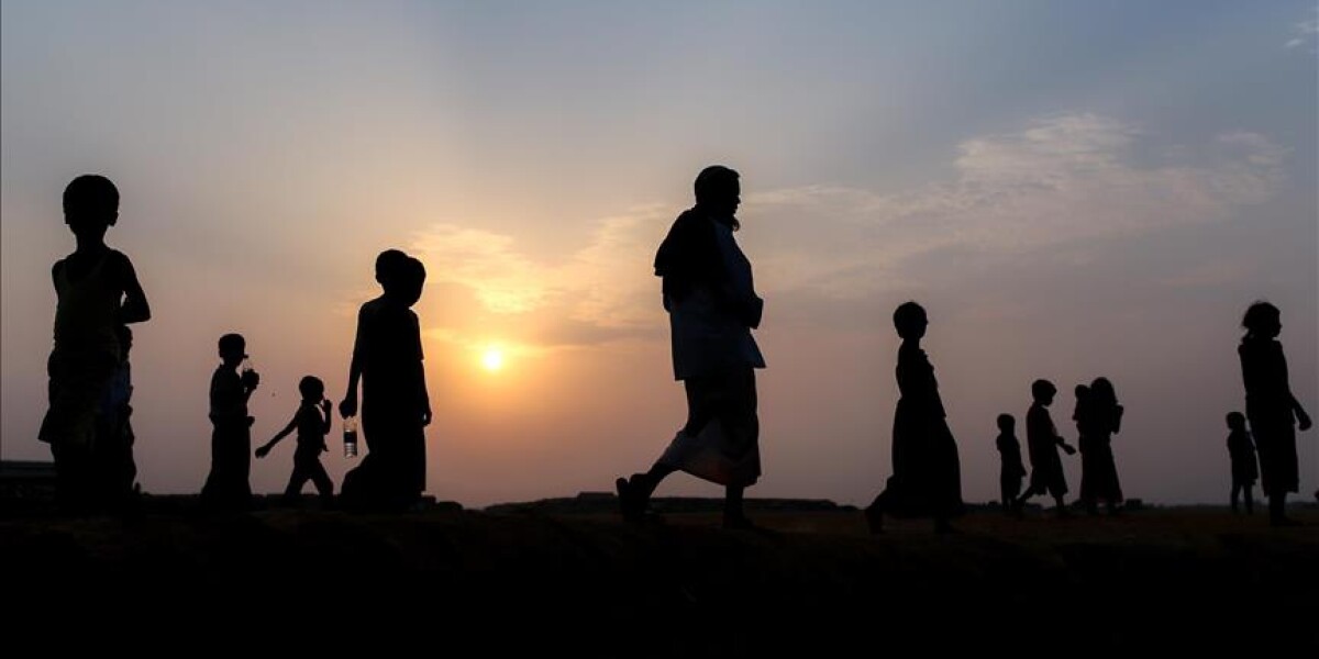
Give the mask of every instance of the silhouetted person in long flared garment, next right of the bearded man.
<svg viewBox="0 0 1319 659">
<path fill-rule="evenodd" d="M 902 337 L 898 348 L 898 407 L 893 414 L 893 476 L 865 509 L 872 532 L 884 529 L 884 515 L 933 517 L 936 531 L 962 513 L 962 465 L 958 443 L 948 430 L 934 366 L 921 349 L 929 320 L 925 308 L 904 302 L 893 311 Z"/>
</svg>

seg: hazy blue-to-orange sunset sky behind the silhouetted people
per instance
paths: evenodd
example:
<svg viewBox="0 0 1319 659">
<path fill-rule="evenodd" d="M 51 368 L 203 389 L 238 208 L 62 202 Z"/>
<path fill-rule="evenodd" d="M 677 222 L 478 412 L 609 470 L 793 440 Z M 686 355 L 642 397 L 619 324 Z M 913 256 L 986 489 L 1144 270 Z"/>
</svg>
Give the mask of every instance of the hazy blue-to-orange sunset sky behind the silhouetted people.
<svg viewBox="0 0 1319 659">
<path fill-rule="evenodd" d="M 1074 442 L 1071 389 L 1107 376 L 1126 494 L 1225 503 L 1252 301 L 1281 307 L 1319 416 L 1316 49 L 1315 4 L 1286 0 L 5 0 L 0 456 L 49 459 L 59 199 L 100 173 L 154 311 L 132 355 L 148 492 L 206 478 L 224 332 L 262 376 L 255 443 L 299 377 L 342 397 L 386 248 L 429 272 L 427 492 L 609 490 L 683 422 L 652 260 L 724 163 L 766 301 L 751 496 L 881 489 L 890 314 L 915 299 L 968 501 L 997 497 L 995 416 L 1022 423 L 1031 380 Z M 1298 438 L 1308 493 L 1319 434 Z M 340 482 L 338 423 L 331 447 Z M 291 461 L 291 442 L 253 461 L 253 489 Z"/>
</svg>

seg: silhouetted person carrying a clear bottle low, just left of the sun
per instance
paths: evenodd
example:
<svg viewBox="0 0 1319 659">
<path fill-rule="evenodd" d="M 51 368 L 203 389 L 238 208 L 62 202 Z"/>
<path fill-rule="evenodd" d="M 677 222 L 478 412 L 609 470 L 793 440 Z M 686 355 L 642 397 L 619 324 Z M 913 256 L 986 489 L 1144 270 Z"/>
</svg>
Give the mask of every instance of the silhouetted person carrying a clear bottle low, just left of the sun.
<svg viewBox="0 0 1319 659">
<path fill-rule="evenodd" d="M 410 308 L 421 299 L 426 268 L 389 249 L 376 257 L 376 281 L 384 293 L 361 306 L 348 368 L 348 391 L 339 414 L 357 413 L 361 381 L 361 432 L 367 456 L 343 478 L 340 501 L 353 509 L 406 510 L 426 489 L 426 426 L 430 395 L 422 366 L 421 324 Z"/>
</svg>

